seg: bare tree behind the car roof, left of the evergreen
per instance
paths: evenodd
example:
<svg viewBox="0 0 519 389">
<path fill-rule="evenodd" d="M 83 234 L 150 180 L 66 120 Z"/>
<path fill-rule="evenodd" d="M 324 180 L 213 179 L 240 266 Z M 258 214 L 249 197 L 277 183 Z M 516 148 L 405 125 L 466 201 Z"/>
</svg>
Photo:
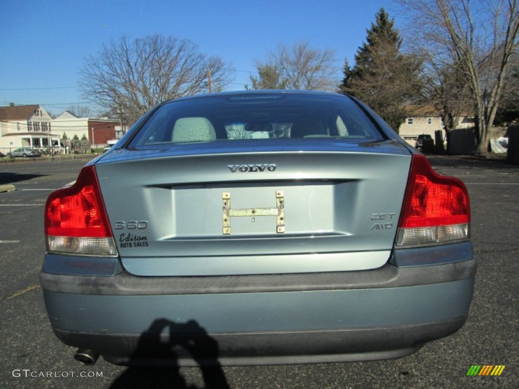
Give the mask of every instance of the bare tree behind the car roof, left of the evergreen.
<svg viewBox="0 0 519 389">
<path fill-rule="evenodd" d="M 269 51 L 266 62 L 256 63 L 260 77 L 251 77 L 253 89 L 267 85 L 276 89 L 335 90 L 334 63 L 334 50 L 312 49 L 307 42 L 279 44 Z"/>
</svg>

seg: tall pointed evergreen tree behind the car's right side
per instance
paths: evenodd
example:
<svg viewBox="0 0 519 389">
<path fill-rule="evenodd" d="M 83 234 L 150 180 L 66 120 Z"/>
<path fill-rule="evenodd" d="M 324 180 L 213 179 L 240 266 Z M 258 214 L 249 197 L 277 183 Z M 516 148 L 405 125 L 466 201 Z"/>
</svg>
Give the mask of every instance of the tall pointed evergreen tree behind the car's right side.
<svg viewBox="0 0 519 389">
<path fill-rule="evenodd" d="M 402 38 L 384 8 L 375 18 L 355 64 L 350 67 L 345 61 L 340 91 L 362 100 L 398 131 L 407 116 L 406 106 L 419 95 L 421 61 L 400 51 Z"/>
</svg>

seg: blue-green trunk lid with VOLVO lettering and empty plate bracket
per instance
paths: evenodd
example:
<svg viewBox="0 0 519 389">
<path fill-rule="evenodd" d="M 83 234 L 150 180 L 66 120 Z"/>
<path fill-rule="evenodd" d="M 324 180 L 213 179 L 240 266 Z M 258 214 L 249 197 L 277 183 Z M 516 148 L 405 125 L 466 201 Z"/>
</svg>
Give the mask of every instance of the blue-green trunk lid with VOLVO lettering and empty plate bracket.
<svg viewBox="0 0 519 389">
<path fill-rule="evenodd" d="M 122 265 L 136 275 L 383 266 L 409 151 L 393 142 L 299 148 L 119 150 L 101 159 Z"/>
</svg>

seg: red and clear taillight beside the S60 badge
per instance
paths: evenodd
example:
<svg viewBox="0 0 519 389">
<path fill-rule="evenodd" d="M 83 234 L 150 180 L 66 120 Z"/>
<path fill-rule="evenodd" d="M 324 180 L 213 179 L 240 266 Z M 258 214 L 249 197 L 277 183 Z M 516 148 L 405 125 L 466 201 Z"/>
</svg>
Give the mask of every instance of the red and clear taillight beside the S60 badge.
<svg viewBox="0 0 519 389">
<path fill-rule="evenodd" d="M 115 244 L 94 166 L 81 170 L 76 183 L 52 192 L 45 206 L 49 251 L 115 255 Z"/>
</svg>

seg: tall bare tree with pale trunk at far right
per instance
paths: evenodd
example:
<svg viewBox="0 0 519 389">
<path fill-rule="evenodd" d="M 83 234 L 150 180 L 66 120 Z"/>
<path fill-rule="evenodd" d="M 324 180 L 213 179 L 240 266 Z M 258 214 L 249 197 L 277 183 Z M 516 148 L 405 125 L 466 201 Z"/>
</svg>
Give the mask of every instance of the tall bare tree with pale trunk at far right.
<svg viewBox="0 0 519 389">
<path fill-rule="evenodd" d="M 519 45 L 518 0 L 400 0 L 412 34 L 435 63 L 456 65 L 469 87 L 479 133 L 476 152 L 488 152 L 511 55 Z"/>
</svg>

